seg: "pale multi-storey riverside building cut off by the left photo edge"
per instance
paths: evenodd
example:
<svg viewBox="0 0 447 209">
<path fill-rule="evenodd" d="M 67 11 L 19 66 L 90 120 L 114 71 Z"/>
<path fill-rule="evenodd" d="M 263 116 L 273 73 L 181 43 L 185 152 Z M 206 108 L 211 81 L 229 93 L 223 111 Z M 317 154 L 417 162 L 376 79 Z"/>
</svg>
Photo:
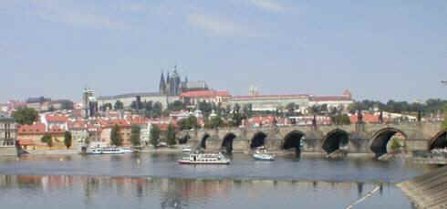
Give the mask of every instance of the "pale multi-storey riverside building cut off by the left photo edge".
<svg viewBox="0 0 447 209">
<path fill-rule="evenodd" d="M 0 155 L 16 155 L 16 121 L 0 111 Z"/>
</svg>

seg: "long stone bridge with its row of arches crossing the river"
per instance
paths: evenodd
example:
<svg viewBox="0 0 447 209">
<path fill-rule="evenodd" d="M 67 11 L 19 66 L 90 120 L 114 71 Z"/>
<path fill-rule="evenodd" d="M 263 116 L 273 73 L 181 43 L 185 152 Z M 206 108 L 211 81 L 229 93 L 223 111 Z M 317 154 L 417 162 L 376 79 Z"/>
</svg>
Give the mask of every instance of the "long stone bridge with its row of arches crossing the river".
<svg viewBox="0 0 447 209">
<path fill-rule="evenodd" d="M 388 152 L 388 142 L 400 133 L 404 152 L 430 151 L 447 147 L 446 131 L 440 123 L 352 124 L 328 126 L 286 126 L 268 128 L 224 128 L 181 131 L 192 146 L 207 150 L 249 152 L 265 146 L 271 151 L 369 153 L 377 157 Z"/>
</svg>

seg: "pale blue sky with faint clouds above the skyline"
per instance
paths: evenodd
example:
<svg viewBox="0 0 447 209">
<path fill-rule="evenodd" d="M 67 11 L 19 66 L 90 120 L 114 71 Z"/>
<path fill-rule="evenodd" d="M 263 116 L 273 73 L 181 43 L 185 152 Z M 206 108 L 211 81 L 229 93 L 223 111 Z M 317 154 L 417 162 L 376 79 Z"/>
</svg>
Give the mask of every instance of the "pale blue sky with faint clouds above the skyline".
<svg viewBox="0 0 447 209">
<path fill-rule="evenodd" d="M 158 91 L 447 99 L 445 0 L 1 0 L 0 102 Z"/>
</svg>

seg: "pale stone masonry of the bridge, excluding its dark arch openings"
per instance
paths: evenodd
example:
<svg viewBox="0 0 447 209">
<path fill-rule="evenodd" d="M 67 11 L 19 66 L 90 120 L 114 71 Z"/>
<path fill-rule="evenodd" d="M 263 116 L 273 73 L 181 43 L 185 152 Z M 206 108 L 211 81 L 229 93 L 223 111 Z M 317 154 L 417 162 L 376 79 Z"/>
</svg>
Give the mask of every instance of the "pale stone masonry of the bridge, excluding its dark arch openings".
<svg viewBox="0 0 447 209">
<path fill-rule="evenodd" d="M 346 132 L 348 134 L 348 144 L 343 144 L 350 153 L 371 153 L 371 146 L 375 138 L 390 138 L 394 133 L 400 132 L 405 138 L 408 152 L 415 150 L 427 150 L 431 139 L 441 131 L 440 123 L 398 123 L 398 124 L 351 124 L 351 125 L 322 125 L 322 126 L 277 126 L 277 127 L 251 127 L 251 128 L 221 128 L 213 130 L 181 131 L 180 136 L 188 134 L 190 141 L 202 141 L 205 134 L 211 137 L 208 139 L 213 148 L 222 146 L 222 142 L 227 134 L 233 133 L 236 137 L 234 141 L 235 150 L 249 150 L 250 143 L 257 133 L 264 133 L 265 145 L 271 150 L 282 150 L 285 139 L 291 132 L 303 133 L 303 152 L 324 152 L 322 146 L 331 134 L 335 132 Z M 386 143 L 388 142 L 383 140 Z M 208 142 L 207 142 L 208 143 Z"/>
</svg>

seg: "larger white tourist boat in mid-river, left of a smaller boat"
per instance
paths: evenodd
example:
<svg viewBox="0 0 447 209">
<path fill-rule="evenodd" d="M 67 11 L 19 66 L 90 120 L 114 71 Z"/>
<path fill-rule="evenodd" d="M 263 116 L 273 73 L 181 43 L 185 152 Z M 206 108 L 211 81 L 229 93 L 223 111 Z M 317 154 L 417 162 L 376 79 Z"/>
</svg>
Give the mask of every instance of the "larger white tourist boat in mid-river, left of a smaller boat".
<svg viewBox="0 0 447 209">
<path fill-rule="evenodd" d="M 188 156 L 179 160 L 181 164 L 230 164 L 230 160 L 227 159 L 221 152 L 215 153 L 190 153 Z"/>
</svg>

